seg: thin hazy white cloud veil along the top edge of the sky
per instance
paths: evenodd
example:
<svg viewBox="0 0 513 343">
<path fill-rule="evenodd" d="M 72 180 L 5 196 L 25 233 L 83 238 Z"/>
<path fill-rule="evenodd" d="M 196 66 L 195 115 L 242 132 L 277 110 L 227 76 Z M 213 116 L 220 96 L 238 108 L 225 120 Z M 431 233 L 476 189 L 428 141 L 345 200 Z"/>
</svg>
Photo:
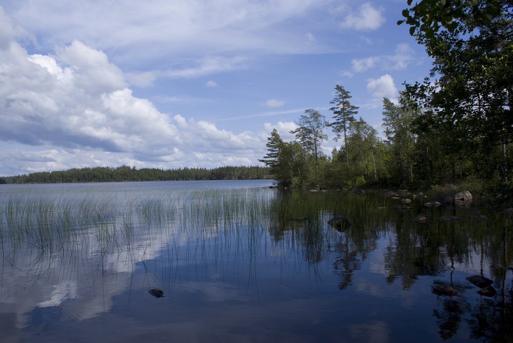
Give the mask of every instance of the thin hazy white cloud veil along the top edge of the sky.
<svg viewBox="0 0 513 343">
<path fill-rule="evenodd" d="M 298 32 L 280 30 L 283 23 L 331 2 L 125 0 L 77 4 L 73 0 L 19 0 L 10 10 L 18 23 L 38 32 L 48 50 L 78 39 L 97 49 L 112 49 L 115 55 L 133 62 L 211 51 L 305 51 L 304 41 L 293 39 Z"/>
</svg>

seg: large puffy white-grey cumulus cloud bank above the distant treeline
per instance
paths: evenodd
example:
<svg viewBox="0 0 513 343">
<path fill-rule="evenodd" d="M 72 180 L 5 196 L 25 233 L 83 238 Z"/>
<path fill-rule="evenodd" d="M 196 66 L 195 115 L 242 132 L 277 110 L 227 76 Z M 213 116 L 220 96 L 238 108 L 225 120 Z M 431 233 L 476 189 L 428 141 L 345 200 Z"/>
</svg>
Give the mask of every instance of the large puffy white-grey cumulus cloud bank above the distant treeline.
<svg viewBox="0 0 513 343">
<path fill-rule="evenodd" d="M 30 55 L 12 39 L 0 47 L 0 104 L 3 175 L 122 164 L 250 165 L 266 149 L 258 133 L 161 113 L 133 96 L 104 52 L 78 40 L 53 55 Z"/>
</svg>

